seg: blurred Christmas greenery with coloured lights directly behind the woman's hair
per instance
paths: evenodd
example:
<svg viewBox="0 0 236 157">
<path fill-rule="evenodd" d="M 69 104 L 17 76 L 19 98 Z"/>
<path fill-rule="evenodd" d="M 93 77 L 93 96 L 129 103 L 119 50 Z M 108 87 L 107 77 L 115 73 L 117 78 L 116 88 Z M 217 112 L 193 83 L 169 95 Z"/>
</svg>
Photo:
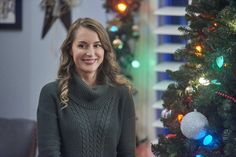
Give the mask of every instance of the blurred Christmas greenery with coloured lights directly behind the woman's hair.
<svg viewBox="0 0 236 157">
<path fill-rule="evenodd" d="M 107 32 L 116 53 L 121 73 L 132 80 L 131 69 L 138 68 L 135 47 L 139 38 L 141 0 L 106 0 Z"/>
</svg>

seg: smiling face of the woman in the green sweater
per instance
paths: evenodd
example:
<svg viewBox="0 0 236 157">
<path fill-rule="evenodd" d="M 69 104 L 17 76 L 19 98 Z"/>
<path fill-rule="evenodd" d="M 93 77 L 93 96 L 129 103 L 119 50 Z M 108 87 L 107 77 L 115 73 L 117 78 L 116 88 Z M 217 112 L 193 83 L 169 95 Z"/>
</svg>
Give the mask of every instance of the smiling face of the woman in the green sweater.
<svg viewBox="0 0 236 157">
<path fill-rule="evenodd" d="M 98 34 L 88 28 L 80 27 L 72 43 L 72 52 L 78 74 L 95 74 L 104 59 L 104 49 Z"/>
</svg>

